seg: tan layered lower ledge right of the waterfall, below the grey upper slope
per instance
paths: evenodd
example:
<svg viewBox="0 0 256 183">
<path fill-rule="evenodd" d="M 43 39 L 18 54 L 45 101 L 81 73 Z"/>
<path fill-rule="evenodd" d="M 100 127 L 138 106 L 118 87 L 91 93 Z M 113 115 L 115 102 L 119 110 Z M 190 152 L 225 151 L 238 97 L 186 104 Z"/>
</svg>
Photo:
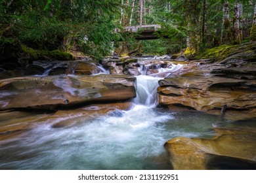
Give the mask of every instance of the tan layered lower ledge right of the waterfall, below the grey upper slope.
<svg viewBox="0 0 256 183">
<path fill-rule="evenodd" d="M 256 81 L 219 76 L 182 76 L 160 80 L 160 105 L 181 105 L 207 111 L 215 108 L 250 110 L 256 107 Z"/>
</svg>

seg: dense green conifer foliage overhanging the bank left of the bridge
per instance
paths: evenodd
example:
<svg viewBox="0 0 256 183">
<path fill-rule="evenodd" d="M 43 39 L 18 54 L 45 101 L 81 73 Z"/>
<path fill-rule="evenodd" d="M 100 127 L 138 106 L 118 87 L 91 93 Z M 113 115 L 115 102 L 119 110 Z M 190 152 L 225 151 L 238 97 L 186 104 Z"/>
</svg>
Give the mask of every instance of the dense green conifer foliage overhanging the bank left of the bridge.
<svg viewBox="0 0 256 183">
<path fill-rule="evenodd" d="M 117 39 L 118 7 L 119 0 L 1 1 L 1 48 L 12 38 L 35 50 L 80 48 L 102 58 Z"/>
</svg>

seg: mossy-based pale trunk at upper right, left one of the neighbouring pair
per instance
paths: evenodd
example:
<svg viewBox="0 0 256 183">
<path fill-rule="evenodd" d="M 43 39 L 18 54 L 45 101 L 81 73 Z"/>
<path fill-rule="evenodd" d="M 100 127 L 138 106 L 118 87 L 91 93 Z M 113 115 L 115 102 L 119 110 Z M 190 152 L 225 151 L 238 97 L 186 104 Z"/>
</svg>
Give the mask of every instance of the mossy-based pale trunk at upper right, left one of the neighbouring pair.
<svg viewBox="0 0 256 183">
<path fill-rule="evenodd" d="M 229 21 L 229 7 L 228 2 L 224 3 L 224 31 L 226 35 L 224 36 L 224 41 L 232 42 L 232 33 Z"/>
</svg>

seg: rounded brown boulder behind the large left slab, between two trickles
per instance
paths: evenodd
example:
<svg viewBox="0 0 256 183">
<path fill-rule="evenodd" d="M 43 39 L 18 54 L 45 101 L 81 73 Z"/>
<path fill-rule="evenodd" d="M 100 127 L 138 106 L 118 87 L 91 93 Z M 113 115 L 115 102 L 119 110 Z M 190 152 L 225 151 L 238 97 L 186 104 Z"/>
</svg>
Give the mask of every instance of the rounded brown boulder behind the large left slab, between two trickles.
<svg viewBox="0 0 256 183">
<path fill-rule="evenodd" d="M 85 61 L 70 61 L 68 63 L 67 75 L 93 75 L 102 72 L 95 63 Z"/>
</svg>

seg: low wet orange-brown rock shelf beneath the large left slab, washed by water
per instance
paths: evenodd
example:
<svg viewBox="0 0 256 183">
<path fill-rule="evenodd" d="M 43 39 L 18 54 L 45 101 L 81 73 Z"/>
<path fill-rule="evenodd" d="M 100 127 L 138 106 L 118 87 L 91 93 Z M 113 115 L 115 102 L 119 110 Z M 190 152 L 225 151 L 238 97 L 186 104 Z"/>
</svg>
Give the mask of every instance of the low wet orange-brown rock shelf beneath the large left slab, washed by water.
<svg viewBox="0 0 256 183">
<path fill-rule="evenodd" d="M 88 122 L 93 118 L 106 115 L 109 112 L 127 110 L 131 103 L 108 103 L 87 105 L 81 108 L 45 111 L 0 111 L 0 141 L 21 136 L 39 123 L 51 124 L 53 127 L 66 127 Z M 11 116 L 11 118 L 10 118 Z"/>
</svg>

